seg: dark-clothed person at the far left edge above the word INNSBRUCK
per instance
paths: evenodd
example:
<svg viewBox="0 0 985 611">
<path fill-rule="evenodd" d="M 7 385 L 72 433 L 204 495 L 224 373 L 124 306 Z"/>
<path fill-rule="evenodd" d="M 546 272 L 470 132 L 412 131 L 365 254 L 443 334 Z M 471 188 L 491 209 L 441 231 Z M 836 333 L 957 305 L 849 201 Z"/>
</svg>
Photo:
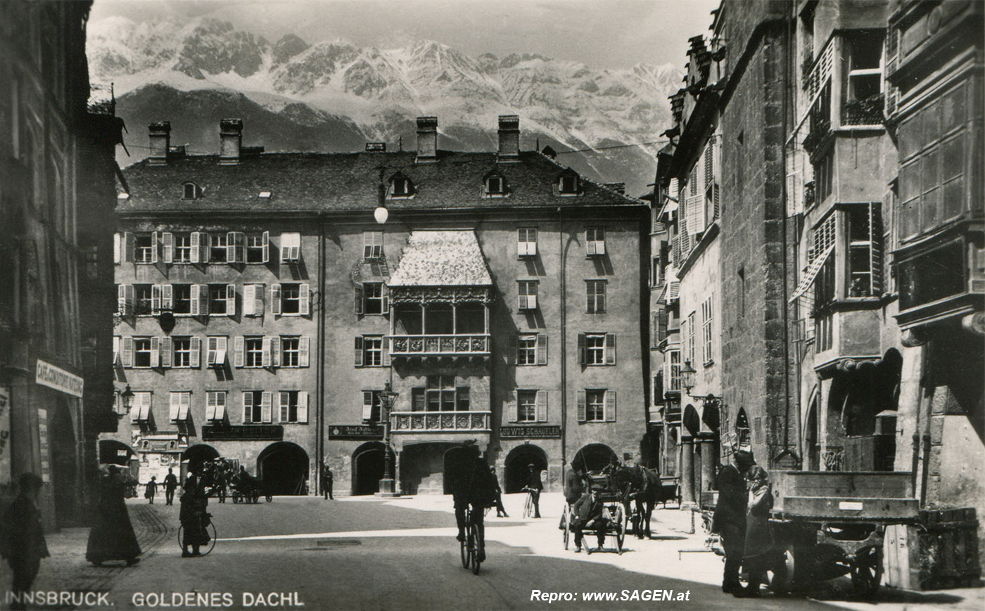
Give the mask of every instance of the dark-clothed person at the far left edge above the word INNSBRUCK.
<svg viewBox="0 0 985 611">
<path fill-rule="evenodd" d="M 31 590 L 41 558 L 48 557 L 48 546 L 41 528 L 41 512 L 37 509 L 41 478 L 25 473 L 21 475 L 19 485 L 21 493 L 7 506 L 0 522 L 0 556 L 14 572 L 11 591 L 24 594 Z"/>
</svg>

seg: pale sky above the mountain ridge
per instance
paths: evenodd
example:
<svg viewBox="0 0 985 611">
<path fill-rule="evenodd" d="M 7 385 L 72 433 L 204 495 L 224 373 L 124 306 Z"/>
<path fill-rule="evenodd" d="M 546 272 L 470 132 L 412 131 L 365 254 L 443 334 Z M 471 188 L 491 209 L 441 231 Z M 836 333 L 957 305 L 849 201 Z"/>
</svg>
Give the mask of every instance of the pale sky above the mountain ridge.
<svg viewBox="0 0 985 611">
<path fill-rule="evenodd" d="M 594 68 L 683 68 L 719 0 L 96 0 L 91 21 L 209 16 L 274 42 L 337 38 L 381 48 L 430 39 L 477 57 L 539 53 Z"/>
</svg>

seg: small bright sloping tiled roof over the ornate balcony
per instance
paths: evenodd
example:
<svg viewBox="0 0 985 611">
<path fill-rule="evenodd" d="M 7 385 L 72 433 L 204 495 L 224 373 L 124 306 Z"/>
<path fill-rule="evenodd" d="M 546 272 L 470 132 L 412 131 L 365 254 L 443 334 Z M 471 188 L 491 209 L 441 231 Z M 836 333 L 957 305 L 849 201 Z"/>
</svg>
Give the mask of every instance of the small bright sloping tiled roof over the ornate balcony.
<svg viewBox="0 0 985 611">
<path fill-rule="evenodd" d="M 476 234 L 469 230 L 411 231 L 390 286 L 476 286 L 493 283 Z"/>
</svg>

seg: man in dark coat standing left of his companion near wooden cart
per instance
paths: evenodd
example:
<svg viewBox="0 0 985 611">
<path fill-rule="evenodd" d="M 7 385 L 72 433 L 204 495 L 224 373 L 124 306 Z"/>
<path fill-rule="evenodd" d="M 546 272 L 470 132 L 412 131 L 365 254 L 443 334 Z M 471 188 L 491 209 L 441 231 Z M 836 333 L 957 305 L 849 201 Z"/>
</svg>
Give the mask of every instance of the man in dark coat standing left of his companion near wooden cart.
<svg viewBox="0 0 985 611">
<path fill-rule="evenodd" d="M 739 568 L 746 541 L 746 477 L 745 473 L 754 464 L 753 455 L 740 451 L 735 453 L 734 462 L 724 465 L 718 471 L 715 487 L 718 488 L 718 503 L 715 505 L 711 531 L 722 537 L 725 548 L 725 573 L 722 576 L 722 591 L 737 592 Z"/>
</svg>

